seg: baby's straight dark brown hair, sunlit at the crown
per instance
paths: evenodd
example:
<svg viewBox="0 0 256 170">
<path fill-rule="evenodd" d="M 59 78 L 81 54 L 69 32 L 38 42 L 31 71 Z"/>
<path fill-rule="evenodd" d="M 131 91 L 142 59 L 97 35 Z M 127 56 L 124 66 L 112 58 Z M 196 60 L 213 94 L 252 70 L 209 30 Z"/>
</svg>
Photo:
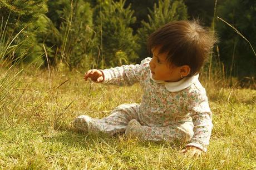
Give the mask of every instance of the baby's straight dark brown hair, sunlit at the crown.
<svg viewBox="0 0 256 170">
<path fill-rule="evenodd" d="M 150 34 L 147 49 L 151 53 L 152 48 L 160 46 L 160 53 L 168 53 L 168 63 L 188 65 L 188 76 L 193 76 L 203 67 L 215 42 L 214 33 L 201 27 L 198 21 L 174 21 Z"/>
</svg>

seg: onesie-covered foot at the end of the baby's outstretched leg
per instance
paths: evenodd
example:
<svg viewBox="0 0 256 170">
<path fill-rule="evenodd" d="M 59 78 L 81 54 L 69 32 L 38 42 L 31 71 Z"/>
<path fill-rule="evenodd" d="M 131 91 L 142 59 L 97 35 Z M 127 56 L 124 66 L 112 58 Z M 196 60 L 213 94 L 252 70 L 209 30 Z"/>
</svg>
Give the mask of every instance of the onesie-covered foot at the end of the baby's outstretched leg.
<svg viewBox="0 0 256 170">
<path fill-rule="evenodd" d="M 102 132 L 104 131 L 104 127 L 101 124 L 97 123 L 97 121 L 89 116 L 82 115 L 76 117 L 73 122 L 72 126 L 75 129 L 78 129 L 83 132 Z"/>
</svg>

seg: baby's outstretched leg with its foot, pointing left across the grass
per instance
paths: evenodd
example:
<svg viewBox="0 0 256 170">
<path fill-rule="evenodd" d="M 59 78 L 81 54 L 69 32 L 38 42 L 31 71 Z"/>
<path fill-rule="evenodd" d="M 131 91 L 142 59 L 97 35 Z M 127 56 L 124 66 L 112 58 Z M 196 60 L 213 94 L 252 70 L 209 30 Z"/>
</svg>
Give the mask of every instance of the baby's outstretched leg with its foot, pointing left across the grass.
<svg viewBox="0 0 256 170">
<path fill-rule="evenodd" d="M 139 108 L 139 104 L 121 104 L 108 117 L 96 119 L 82 115 L 75 118 L 72 125 L 86 132 L 103 132 L 110 135 L 125 132 L 131 119 L 138 119 Z"/>
</svg>

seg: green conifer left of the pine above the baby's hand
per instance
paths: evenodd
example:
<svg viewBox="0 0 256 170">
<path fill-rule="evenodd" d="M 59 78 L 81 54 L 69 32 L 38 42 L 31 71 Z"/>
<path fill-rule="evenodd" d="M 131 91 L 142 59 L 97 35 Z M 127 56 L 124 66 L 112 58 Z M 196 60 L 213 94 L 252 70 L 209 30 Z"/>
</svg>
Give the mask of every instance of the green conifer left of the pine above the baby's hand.
<svg viewBox="0 0 256 170">
<path fill-rule="evenodd" d="M 63 36 L 61 57 L 71 70 L 80 66 L 82 59 L 91 54 L 95 34 L 92 29 L 92 10 L 89 3 L 78 0 L 74 1 L 72 7 L 70 3 L 63 8 L 63 14 L 65 21 L 60 26 Z"/>
</svg>

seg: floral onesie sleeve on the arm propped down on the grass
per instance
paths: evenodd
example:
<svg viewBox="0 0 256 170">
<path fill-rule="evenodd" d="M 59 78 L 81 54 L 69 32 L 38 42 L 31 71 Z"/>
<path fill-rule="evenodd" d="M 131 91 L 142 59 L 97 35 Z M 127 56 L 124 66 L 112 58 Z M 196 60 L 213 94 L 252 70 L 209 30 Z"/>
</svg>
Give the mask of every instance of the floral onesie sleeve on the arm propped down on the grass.
<svg viewBox="0 0 256 170">
<path fill-rule="evenodd" d="M 187 107 L 194 124 L 194 136 L 186 147 L 193 146 L 206 152 L 213 124 L 208 98 L 203 87 L 189 93 Z"/>
</svg>

